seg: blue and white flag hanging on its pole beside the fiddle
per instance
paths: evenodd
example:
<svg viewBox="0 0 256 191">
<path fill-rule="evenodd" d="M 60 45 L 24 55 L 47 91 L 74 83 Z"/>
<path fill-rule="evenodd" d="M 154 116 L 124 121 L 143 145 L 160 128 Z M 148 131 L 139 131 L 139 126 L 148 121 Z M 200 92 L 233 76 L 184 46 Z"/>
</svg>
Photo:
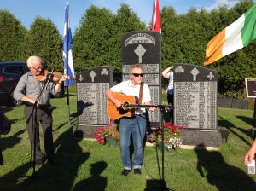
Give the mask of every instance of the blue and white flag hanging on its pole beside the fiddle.
<svg viewBox="0 0 256 191">
<path fill-rule="evenodd" d="M 68 20 L 68 3 L 65 7 L 65 23 L 63 35 L 63 61 L 64 61 L 64 74 L 70 78 L 74 78 L 73 70 L 73 56 L 72 56 L 72 34 Z M 64 81 L 64 86 L 75 84 L 74 80 Z"/>
</svg>

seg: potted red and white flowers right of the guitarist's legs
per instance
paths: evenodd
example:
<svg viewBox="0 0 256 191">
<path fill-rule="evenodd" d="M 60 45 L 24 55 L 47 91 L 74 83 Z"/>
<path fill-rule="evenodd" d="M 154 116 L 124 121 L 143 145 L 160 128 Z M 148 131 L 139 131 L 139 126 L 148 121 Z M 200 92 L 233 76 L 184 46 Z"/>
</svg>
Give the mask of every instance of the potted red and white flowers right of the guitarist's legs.
<svg viewBox="0 0 256 191">
<path fill-rule="evenodd" d="M 180 138 L 180 131 L 183 130 L 183 126 L 176 126 L 172 123 L 164 124 L 164 147 L 170 151 L 178 148 L 182 144 Z M 152 134 L 149 136 L 150 142 L 155 142 L 157 146 L 162 144 L 161 126 L 158 126 Z"/>
</svg>

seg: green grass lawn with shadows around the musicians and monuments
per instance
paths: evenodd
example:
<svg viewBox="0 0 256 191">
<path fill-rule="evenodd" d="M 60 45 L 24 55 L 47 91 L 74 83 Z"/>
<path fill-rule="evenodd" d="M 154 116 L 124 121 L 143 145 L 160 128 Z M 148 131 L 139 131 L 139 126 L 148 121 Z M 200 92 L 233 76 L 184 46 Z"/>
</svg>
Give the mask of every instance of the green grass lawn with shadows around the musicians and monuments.
<svg viewBox="0 0 256 191">
<path fill-rule="evenodd" d="M 9 109 L 12 130 L 1 136 L 4 164 L 0 166 L 0 190 L 160 190 L 161 154 L 146 147 L 143 173 L 121 177 L 119 147 L 73 138 L 68 128 L 66 97 L 52 99 L 54 144 L 58 165 L 45 164 L 32 174 L 31 149 L 23 106 Z M 70 97 L 71 124 L 77 124 L 76 96 Z M 165 155 L 165 180 L 174 190 L 256 190 L 256 175 L 247 175 L 243 156 L 252 142 L 253 110 L 218 108 L 218 126 L 228 130 L 228 142 L 219 151 L 179 149 Z M 42 139 L 42 138 L 41 138 Z M 42 143 L 42 142 L 41 142 Z"/>
</svg>

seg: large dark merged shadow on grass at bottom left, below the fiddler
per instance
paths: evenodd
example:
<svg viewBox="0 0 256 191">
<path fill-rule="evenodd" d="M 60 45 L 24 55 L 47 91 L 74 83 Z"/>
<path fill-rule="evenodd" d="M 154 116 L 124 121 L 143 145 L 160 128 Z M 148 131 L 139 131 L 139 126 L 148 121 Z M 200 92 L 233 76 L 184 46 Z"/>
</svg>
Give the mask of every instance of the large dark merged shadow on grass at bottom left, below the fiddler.
<svg viewBox="0 0 256 191">
<path fill-rule="evenodd" d="M 82 148 L 80 148 L 80 140 L 73 138 L 73 128 L 69 128 L 54 142 L 57 150 L 55 158 L 58 164 L 51 165 L 49 162 L 46 162 L 42 166 L 36 166 L 36 173 L 38 175 L 36 178 L 17 177 L 32 174 L 31 163 L 20 165 L 0 178 L 1 190 L 72 190 L 73 182 L 78 175 L 80 166 L 90 157 L 90 153 L 84 153 Z M 2 187 L 3 183 L 4 187 Z"/>
</svg>

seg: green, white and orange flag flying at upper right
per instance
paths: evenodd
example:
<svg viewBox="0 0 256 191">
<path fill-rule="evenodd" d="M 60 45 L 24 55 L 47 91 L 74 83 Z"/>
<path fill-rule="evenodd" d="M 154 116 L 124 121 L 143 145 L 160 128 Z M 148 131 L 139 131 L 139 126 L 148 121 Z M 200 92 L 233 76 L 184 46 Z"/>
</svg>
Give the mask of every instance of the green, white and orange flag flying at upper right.
<svg viewBox="0 0 256 191">
<path fill-rule="evenodd" d="M 256 4 L 212 38 L 207 44 L 204 65 L 209 65 L 225 55 L 246 47 L 254 38 L 256 38 Z"/>
</svg>

